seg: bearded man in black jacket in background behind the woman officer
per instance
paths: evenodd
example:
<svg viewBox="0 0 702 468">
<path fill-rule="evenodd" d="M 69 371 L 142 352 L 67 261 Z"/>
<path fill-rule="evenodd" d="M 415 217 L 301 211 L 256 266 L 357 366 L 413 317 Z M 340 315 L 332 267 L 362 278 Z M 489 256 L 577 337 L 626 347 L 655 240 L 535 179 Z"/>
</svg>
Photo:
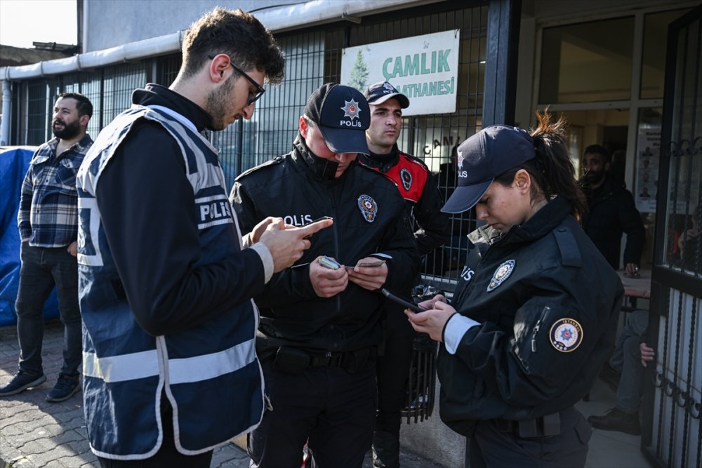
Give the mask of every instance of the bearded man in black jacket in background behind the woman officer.
<svg viewBox="0 0 702 468">
<path fill-rule="evenodd" d="M 631 192 L 609 174 L 610 163 L 606 148 L 585 148 L 581 182 L 588 212 L 583 216 L 583 229 L 614 269 L 620 266 L 621 236 L 625 233 L 624 268 L 627 274 L 635 275 L 644 249 L 644 223 Z"/>
</svg>

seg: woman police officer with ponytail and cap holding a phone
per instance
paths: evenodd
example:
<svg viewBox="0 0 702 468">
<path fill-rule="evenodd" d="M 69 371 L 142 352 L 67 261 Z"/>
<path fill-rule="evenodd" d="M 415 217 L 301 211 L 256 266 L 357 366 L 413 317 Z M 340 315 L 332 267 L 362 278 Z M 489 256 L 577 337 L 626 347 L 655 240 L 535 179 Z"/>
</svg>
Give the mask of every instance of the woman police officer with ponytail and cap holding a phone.
<svg viewBox="0 0 702 468">
<path fill-rule="evenodd" d="M 406 314 L 444 343 L 440 414 L 470 437 L 470 466 L 582 467 L 590 426 L 573 407 L 614 342 L 621 281 L 576 221 L 585 210 L 565 123 L 531 135 L 496 125 L 458 148 L 458 187 L 442 210 L 475 206 L 486 225 L 451 305 Z"/>
</svg>

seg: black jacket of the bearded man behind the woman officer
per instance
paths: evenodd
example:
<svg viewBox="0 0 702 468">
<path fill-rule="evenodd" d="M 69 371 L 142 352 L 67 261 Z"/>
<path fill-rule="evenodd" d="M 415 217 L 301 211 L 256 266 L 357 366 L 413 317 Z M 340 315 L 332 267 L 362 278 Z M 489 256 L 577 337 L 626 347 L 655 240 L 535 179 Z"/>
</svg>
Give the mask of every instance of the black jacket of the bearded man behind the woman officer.
<svg viewBox="0 0 702 468">
<path fill-rule="evenodd" d="M 585 189 L 588 213 L 583 218 L 583 229 L 592 243 L 602 252 L 612 268 L 618 269 L 621 252 L 621 235 L 626 233 L 624 265 L 641 265 L 644 250 L 644 223 L 636 209 L 634 197 L 623 185 L 605 175 L 605 180 L 595 190 Z"/>
</svg>

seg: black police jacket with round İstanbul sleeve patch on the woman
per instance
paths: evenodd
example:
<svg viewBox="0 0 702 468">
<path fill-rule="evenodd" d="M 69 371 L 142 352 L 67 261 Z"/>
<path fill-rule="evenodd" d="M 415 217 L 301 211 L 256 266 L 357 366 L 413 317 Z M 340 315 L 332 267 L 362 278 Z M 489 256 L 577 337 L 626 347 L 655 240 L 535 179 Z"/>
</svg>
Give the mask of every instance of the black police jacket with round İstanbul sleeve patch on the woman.
<svg viewBox="0 0 702 468">
<path fill-rule="evenodd" d="M 440 414 L 456 432 L 574 405 L 609 355 L 623 287 L 569 210 L 556 198 L 501 237 L 470 234 L 453 307 L 481 325 L 437 361 Z"/>
</svg>

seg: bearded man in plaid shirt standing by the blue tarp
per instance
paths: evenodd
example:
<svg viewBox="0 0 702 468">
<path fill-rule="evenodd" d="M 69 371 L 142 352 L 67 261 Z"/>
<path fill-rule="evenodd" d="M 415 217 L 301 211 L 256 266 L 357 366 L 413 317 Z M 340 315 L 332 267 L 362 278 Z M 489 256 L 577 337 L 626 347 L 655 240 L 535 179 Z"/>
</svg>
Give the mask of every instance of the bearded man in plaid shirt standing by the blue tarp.
<svg viewBox="0 0 702 468">
<path fill-rule="evenodd" d="M 15 310 L 20 342 L 18 373 L 0 396 L 18 394 L 46 380 L 41 367 L 44 302 L 56 287 L 65 326 L 63 367 L 46 401 L 64 401 L 78 392 L 81 364 L 81 314 L 78 305 L 78 194 L 76 174 L 93 140 L 86 133 L 93 115 L 90 100 L 63 93 L 53 109 L 55 138 L 32 156 L 22 183 L 20 210 L 20 288 Z"/>
</svg>

